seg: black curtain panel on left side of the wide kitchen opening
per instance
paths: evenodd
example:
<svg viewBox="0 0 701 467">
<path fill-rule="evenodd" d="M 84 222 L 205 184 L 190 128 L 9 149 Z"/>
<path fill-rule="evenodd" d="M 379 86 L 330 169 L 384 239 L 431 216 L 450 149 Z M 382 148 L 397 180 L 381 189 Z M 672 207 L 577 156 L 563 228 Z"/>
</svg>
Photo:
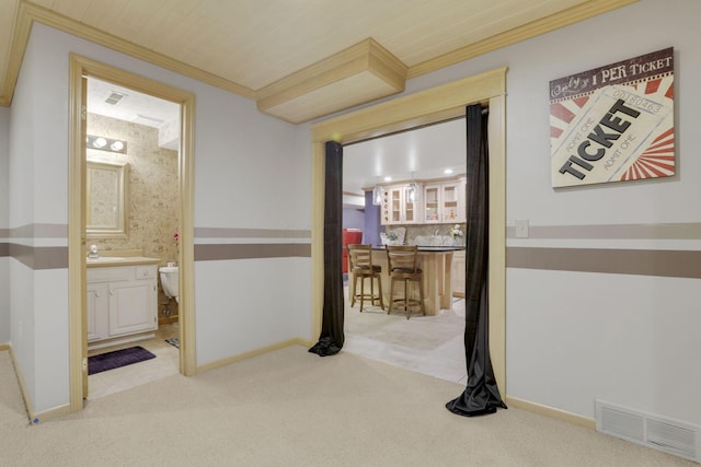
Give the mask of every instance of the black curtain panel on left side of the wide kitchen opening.
<svg viewBox="0 0 701 467">
<path fill-rule="evenodd" d="M 324 205 L 324 307 L 319 342 L 310 352 L 320 357 L 341 351 L 343 336 L 343 145 L 326 142 L 326 182 Z"/>
</svg>

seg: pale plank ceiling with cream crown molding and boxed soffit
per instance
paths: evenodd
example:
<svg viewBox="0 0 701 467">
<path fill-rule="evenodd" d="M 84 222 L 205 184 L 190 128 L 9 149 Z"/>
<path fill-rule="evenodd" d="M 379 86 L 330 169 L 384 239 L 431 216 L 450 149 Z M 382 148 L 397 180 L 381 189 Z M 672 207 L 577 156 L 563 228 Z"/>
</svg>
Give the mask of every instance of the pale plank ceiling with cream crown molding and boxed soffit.
<svg viewBox="0 0 701 467">
<path fill-rule="evenodd" d="M 0 0 L 0 104 L 41 22 L 309 121 L 635 0 Z"/>
</svg>

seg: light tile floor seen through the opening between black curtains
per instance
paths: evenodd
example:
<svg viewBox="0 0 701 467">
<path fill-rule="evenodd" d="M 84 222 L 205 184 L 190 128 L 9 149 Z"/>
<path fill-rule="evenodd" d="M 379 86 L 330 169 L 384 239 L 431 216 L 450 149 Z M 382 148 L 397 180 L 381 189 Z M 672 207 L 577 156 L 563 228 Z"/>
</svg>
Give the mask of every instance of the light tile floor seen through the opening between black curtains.
<svg viewBox="0 0 701 467">
<path fill-rule="evenodd" d="M 345 296 L 347 297 L 347 288 Z M 464 299 L 436 316 L 403 312 L 388 315 L 380 306 L 345 304 L 343 350 L 368 359 L 467 384 L 464 363 Z"/>
</svg>

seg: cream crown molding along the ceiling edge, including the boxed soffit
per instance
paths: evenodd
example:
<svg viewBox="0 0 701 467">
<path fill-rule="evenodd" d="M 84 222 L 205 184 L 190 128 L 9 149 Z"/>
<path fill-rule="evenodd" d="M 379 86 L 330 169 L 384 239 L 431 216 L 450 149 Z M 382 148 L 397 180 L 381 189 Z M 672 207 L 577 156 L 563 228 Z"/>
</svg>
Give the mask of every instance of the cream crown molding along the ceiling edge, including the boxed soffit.
<svg viewBox="0 0 701 467">
<path fill-rule="evenodd" d="M 192 67 L 20 0 L 0 105 L 12 103 L 32 25 L 37 22 L 256 102 L 257 108 L 292 124 L 343 110 L 404 90 L 405 80 L 587 20 L 637 0 L 589 0 L 479 43 L 406 67 L 372 38 L 330 56 L 257 91 Z"/>
</svg>

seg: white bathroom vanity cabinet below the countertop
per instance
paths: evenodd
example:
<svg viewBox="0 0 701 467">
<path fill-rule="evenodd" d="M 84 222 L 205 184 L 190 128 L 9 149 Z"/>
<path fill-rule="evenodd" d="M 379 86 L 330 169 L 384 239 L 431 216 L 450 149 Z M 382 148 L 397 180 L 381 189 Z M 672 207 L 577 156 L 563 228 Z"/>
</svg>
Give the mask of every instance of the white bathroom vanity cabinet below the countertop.
<svg viewBox="0 0 701 467">
<path fill-rule="evenodd" d="M 88 268 L 88 341 L 158 328 L 157 266 Z"/>
</svg>

